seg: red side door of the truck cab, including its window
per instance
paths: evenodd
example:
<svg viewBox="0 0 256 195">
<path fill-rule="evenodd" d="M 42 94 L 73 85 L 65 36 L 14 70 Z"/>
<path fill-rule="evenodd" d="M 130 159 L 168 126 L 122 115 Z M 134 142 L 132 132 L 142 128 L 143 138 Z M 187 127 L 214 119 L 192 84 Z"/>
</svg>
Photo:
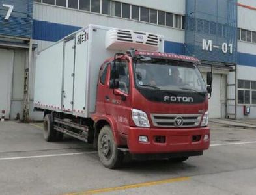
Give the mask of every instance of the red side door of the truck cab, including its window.
<svg viewBox="0 0 256 195">
<path fill-rule="evenodd" d="M 119 88 L 109 88 L 109 80 L 111 79 L 111 70 L 113 69 L 113 62 L 109 66 L 108 83 L 105 88 L 105 110 L 106 114 L 113 116 L 117 122 L 119 133 L 128 135 L 126 130 L 130 124 L 131 112 L 131 81 L 129 63 L 127 60 L 116 62 L 117 70 L 119 72 Z"/>
</svg>

